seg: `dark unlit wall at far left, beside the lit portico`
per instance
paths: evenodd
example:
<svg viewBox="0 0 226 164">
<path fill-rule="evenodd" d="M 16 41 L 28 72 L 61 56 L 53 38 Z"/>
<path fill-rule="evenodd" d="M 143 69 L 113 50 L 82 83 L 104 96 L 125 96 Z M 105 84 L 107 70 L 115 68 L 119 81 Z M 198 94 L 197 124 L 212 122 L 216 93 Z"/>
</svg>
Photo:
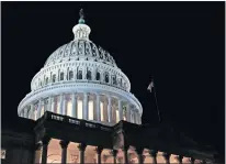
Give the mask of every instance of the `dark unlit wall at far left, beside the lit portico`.
<svg viewBox="0 0 226 164">
<path fill-rule="evenodd" d="M 32 164 L 34 158 L 34 121 L 21 119 L 20 124 L 2 127 L 1 151 L 5 151 L 2 164 Z M 2 156 L 2 157 L 3 157 Z"/>
</svg>

